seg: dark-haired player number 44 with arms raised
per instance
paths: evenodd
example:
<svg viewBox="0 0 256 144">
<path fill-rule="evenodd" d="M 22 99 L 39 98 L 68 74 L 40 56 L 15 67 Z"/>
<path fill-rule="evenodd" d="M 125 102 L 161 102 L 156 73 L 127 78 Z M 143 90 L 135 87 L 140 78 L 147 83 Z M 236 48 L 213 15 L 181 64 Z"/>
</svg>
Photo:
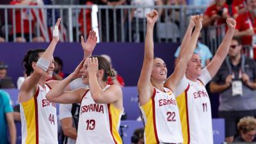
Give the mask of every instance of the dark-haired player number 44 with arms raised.
<svg viewBox="0 0 256 144">
<path fill-rule="evenodd" d="M 56 105 L 45 98 L 49 89 L 58 81 L 46 81 L 52 77 L 54 69 L 53 52 L 58 43 L 58 27 L 60 19 L 56 22 L 52 42 L 49 47 L 28 51 L 23 63 L 28 77 L 20 87 L 19 103 L 22 122 L 22 143 L 58 143 Z M 97 39 L 95 33 L 90 32 L 86 43 L 82 42 L 86 55 L 90 55 Z M 76 87 L 70 86 L 70 88 Z"/>
</svg>

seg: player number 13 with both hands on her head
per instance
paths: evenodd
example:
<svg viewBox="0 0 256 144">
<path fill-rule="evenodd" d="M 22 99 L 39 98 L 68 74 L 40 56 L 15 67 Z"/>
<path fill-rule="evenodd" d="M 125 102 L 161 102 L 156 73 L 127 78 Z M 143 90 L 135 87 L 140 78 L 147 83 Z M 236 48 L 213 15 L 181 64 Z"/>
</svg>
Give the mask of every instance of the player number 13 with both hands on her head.
<svg viewBox="0 0 256 144">
<path fill-rule="evenodd" d="M 82 74 L 90 90 L 78 88 L 64 91 L 65 87 Z M 76 70 L 47 93 L 52 102 L 81 102 L 76 143 L 122 143 L 118 134 L 123 108 L 122 89 L 108 85 L 108 76 L 115 76 L 110 63 L 102 56 L 92 56 L 81 61 Z"/>
</svg>

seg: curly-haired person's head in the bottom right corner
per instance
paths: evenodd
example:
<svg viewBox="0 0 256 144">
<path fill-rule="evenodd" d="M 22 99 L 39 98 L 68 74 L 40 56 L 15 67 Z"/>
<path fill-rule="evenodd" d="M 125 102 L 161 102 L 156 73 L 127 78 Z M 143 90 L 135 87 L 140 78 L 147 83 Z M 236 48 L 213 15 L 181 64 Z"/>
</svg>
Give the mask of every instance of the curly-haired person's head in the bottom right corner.
<svg viewBox="0 0 256 144">
<path fill-rule="evenodd" d="M 256 119 L 252 116 L 241 118 L 237 129 L 240 135 L 234 140 L 235 142 L 252 142 L 256 135 Z"/>
</svg>

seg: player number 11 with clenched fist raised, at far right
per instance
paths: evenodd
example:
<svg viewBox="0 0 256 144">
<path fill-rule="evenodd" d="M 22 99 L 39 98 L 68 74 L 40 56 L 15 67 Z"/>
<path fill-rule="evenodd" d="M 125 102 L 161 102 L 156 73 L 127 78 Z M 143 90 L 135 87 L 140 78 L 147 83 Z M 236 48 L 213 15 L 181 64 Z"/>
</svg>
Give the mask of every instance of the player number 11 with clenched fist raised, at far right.
<svg viewBox="0 0 256 144">
<path fill-rule="evenodd" d="M 177 86 L 177 89 L 183 88 L 184 85 L 188 86 L 185 92 L 177 97 L 184 143 L 213 143 L 211 103 L 205 84 L 218 72 L 228 54 L 236 20 L 228 18 L 227 26 L 228 31 L 211 63 L 202 69 L 200 56 L 193 54 L 186 66 L 186 81 L 181 81 Z M 184 42 L 187 42 L 190 36 L 186 38 Z M 185 49 L 181 51 L 184 52 Z M 183 56 L 182 53 L 179 57 L 181 56 Z"/>
</svg>

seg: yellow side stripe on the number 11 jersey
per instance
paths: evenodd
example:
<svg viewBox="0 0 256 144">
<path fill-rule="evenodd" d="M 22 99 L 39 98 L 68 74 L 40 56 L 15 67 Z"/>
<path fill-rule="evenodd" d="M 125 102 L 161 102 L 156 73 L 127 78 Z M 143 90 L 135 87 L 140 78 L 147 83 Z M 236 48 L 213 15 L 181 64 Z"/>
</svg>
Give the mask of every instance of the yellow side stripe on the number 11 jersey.
<svg viewBox="0 0 256 144">
<path fill-rule="evenodd" d="M 181 93 L 179 97 L 176 97 L 177 104 L 180 113 L 180 122 L 182 127 L 183 143 L 189 143 L 189 123 L 188 123 L 188 111 L 186 101 L 186 91 Z"/>
</svg>

